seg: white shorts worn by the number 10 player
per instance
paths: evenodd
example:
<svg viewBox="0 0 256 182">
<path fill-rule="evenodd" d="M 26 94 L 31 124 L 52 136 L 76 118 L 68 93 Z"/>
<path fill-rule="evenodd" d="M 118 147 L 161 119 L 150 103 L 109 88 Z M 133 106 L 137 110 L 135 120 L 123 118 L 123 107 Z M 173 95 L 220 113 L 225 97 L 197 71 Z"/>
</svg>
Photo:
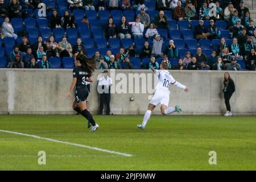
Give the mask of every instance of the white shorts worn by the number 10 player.
<svg viewBox="0 0 256 182">
<path fill-rule="evenodd" d="M 170 91 L 164 89 L 156 89 L 153 97 L 151 98 L 150 104 L 156 106 L 158 104 L 165 105 L 168 107 L 170 100 Z"/>
</svg>

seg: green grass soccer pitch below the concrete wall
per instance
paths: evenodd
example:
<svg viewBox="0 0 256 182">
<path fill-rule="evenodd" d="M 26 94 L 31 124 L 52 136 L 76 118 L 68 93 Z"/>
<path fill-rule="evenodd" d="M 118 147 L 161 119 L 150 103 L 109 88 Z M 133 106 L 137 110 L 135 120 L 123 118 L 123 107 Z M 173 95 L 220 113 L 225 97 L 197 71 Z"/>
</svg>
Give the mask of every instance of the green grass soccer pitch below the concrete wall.
<svg viewBox="0 0 256 182">
<path fill-rule="evenodd" d="M 123 152 L 0 132 L 0 170 L 255 170 L 256 117 L 96 115 L 89 132 L 81 115 L 0 115 L 0 130 Z M 46 165 L 38 152 L 46 152 Z M 209 151 L 217 152 L 210 165 Z"/>
</svg>

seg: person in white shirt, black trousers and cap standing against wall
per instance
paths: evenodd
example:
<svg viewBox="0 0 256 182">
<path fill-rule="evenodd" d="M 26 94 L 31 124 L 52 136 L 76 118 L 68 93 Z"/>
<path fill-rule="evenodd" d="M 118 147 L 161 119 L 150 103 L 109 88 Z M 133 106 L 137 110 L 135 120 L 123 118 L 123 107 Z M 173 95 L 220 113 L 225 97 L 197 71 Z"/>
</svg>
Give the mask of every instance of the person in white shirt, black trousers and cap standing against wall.
<svg viewBox="0 0 256 182">
<path fill-rule="evenodd" d="M 110 86 L 112 86 L 112 78 L 108 76 L 108 71 L 105 70 L 104 75 L 98 80 L 98 92 L 100 93 L 100 112 L 103 114 L 103 108 L 106 104 L 106 115 L 110 114 Z"/>
</svg>

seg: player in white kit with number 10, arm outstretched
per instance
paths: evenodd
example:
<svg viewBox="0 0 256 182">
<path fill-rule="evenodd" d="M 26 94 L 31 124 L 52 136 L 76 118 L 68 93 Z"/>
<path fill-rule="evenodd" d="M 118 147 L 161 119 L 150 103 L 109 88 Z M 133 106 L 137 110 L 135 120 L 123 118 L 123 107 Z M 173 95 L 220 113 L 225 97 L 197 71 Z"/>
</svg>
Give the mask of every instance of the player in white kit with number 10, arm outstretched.
<svg viewBox="0 0 256 182">
<path fill-rule="evenodd" d="M 146 129 L 147 121 L 150 119 L 152 111 L 158 104 L 161 105 L 160 109 L 162 114 L 171 114 L 175 111 L 182 113 L 179 105 L 176 105 L 175 107 L 168 107 L 170 100 L 170 91 L 168 88 L 170 84 L 185 90 L 185 92 L 188 92 L 189 88 L 180 84 L 171 76 L 171 74 L 168 72 L 168 65 L 168 61 L 164 60 L 160 65 L 160 70 L 152 69 L 152 71 L 158 75 L 158 84 L 156 85 L 154 95 L 148 104 L 142 124 L 137 125 L 139 129 Z"/>
</svg>

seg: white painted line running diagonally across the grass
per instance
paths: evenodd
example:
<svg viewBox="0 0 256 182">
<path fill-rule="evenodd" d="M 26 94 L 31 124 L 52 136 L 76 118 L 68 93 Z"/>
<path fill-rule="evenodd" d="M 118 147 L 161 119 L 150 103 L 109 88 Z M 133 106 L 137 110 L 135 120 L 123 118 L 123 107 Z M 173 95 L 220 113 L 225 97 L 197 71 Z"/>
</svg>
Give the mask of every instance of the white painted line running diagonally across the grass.
<svg viewBox="0 0 256 182">
<path fill-rule="evenodd" d="M 98 150 L 98 151 L 101 151 L 101 152 L 108 152 L 108 153 L 111 153 L 111 154 L 123 155 L 123 156 L 126 156 L 126 157 L 131 157 L 131 156 L 133 156 L 133 155 L 131 155 L 131 154 L 126 154 L 126 153 L 121 153 L 121 152 L 115 152 L 115 151 L 106 150 L 106 149 L 102 149 L 102 148 L 98 148 L 98 147 L 84 146 L 84 145 L 78 144 L 78 143 L 64 142 L 64 141 L 55 140 L 55 139 L 51 139 L 51 138 L 39 137 L 39 136 L 36 136 L 36 135 L 28 135 L 28 134 L 25 134 L 25 133 L 18 133 L 18 132 L 14 132 L 14 131 L 0 130 L 0 132 L 3 132 L 3 133 L 11 133 L 11 134 L 15 134 L 15 135 L 22 135 L 22 136 L 32 137 L 32 138 L 38 138 L 38 139 L 47 140 L 47 141 L 50 141 L 50 142 L 56 142 L 56 143 L 62 143 L 62 144 L 69 144 L 69 145 L 71 145 L 71 146 L 84 147 L 84 148 L 89 148 L 89 149 L 92 149 L 92 150 Z"/>
</svg>

